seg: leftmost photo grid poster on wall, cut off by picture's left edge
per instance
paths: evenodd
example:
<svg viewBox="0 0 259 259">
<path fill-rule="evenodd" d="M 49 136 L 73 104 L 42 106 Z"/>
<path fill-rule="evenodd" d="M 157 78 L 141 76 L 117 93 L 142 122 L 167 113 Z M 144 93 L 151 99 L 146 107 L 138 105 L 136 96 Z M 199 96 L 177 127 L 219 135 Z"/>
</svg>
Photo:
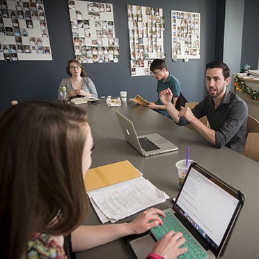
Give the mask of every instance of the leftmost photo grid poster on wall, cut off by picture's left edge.
<svg viewBox="0 0 259 259">
<path fill-rule="evenodd" d="M 0 1 L 0 60 L 52 60 L 43 0 Z"/>
</svg>

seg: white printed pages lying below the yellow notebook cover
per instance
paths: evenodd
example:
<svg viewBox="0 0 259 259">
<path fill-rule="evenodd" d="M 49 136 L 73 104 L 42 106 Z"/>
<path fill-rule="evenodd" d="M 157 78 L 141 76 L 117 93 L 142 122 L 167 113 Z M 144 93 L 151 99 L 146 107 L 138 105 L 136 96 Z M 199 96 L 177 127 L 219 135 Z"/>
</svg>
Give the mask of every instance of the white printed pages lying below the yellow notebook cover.
<svg viewBox="0 0 259 259">
<path fill-rule="evenodd" d="M 147 207 L 164 203 L 169 198 L 145 178 L 93 191 L 88 196 L 102 223 L 107 222 L 107 219 L 114 223 Z"/>
</svg>

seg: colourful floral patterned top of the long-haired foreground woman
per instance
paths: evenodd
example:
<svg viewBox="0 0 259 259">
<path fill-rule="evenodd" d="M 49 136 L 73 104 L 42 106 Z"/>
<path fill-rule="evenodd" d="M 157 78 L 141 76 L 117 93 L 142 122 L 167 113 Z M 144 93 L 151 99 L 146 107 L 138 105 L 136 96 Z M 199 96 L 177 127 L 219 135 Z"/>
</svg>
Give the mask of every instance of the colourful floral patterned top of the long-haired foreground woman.
<svg viewBox="0 0 259 259">
<path fill-rule="evenodd" d="M 66 259 L 63 241 L 63 237 L 35 233 L 27 245 L 23 259 Z"/>
</svg>

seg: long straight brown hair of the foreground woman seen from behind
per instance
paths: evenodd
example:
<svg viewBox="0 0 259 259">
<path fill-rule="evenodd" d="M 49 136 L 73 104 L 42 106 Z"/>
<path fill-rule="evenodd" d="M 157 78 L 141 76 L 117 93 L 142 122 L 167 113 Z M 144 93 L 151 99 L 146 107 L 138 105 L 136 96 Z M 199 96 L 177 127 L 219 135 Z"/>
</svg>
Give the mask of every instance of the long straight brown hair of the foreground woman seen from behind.
<svg viewBox="0 0 259 259">
<path fill-rule="evenodd" d="M 21 258 L 33 233 L 66 235 L 86 217 L 83 109 L 21 102 L 0 117 L 0 240 Z"/>
</svg>

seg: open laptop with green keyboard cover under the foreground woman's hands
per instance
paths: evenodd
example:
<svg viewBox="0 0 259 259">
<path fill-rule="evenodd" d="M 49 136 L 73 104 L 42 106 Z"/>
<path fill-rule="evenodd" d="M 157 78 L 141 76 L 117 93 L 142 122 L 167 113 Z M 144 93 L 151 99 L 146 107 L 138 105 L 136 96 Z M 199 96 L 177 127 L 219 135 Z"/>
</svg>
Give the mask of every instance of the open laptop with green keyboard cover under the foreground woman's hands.
<svg viewBox="0 0 259 259">
<path fill-rule="evenodd" d="M 186 232 L 184 246 L 188 251 L 178 258 L 191 258 L 188 257 L 191 248 L 187 244 L 191 240 L 196 243 L 191 246 L 197 246 L 197 258 L 222 256 L 243 204 L 244 194 L 241 191 L 202 166 L 191 164 L 173 209 L 164 210 L 166 221 L 176 221 L 173 230 Z M 168 232 L 166 221 L 162 220 L 164 226 L 152 228 L 151 234 L 130 241 L 136 258 L 146 258 L 155 240 L 160 240 Z M 144 247 L 148 249 L 145 251 Z"/>
</svg>

